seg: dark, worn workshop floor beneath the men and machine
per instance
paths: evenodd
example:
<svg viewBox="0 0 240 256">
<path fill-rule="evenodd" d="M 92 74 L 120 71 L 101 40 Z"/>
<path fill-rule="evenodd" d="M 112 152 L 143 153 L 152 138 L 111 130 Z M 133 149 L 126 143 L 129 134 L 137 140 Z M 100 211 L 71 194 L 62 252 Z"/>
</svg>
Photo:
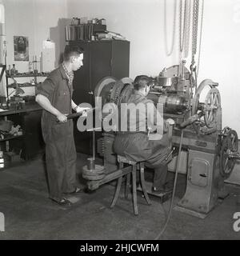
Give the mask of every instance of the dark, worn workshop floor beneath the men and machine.
<svg viewBox="0 0 240 256">
<path fill-rule="evenodd" d="M 78 177 L 85 164 L 86 155 L 78 154 Z M 182 197 L 184 186 L 185 176 L 180 175 L 174 202 Z M 240 239 L 240 231 L 233 229 L 233 215 L 240 212 L 236 203 L 240 188 L 226 188 L 230 195 L 205 219 L 172 210 L 161 239 Z M 107 184 L 93 193 L 71 197 L 74 205 L 64 208 L 48 198 L 42 158 L 2 170 L 0 211 L 5 215 L 5 231 L 0 232 L 0 239 L 154 240 L 162 230 L 170 201 L 161 204 L 159 198 L 151 197 L 152 205 L 147 206 L 138 194 L 136 217 L 131 201 L 122 196 L 111 210 L 113 195 L 114 186 Z"/>
</svg>

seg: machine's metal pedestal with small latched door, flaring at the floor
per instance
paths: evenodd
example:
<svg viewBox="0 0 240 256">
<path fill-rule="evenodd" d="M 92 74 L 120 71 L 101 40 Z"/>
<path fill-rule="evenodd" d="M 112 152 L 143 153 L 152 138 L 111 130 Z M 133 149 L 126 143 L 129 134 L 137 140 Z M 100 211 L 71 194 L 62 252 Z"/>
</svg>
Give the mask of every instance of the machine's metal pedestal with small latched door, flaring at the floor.
<svg viewBox="0 0 240 256">
<path fill-rule="evenodd" d="M 217 205 L 223 186 L 216 154 L 189 150 L 186 193 L 174 210 L 206 218 Z"/>
</svg>

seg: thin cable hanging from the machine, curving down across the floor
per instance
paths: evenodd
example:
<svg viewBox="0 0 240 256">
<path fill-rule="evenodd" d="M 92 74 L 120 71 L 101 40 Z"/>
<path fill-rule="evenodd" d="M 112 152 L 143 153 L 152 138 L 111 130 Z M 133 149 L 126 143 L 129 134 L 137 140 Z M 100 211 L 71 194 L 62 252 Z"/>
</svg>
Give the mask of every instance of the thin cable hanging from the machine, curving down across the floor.
<svg viewBox="0 0 240 256">
<path fill-rule="evenodd" d="M 181 138 L 180 138 L 180 144 L 179 144 L 179 149 L 178 149 L 177 168 L 176 168 L 175 177 L 174 177 L 174 189 L 173 189 L 173 194 L 172 194 L 172 198 L 171 198 L 171 202 L 170 202 L 169 213 L 168 213 L 168 216 L 166 218 L 166 222 L 164 223 L 164 226 L 163 226 L 162 230 L 159 232 L 157 237 L 154 238 L 154 240 L 158 240 L 162 236 L 162 234 L 166 230 L 166 226 L 168 225 L 168 222 L 170 221 L 170 214 L 171 214 L 171 211 L 172 211 L 172 208 L 173 208 L 173 205 L 174 205 L 174 196 L 175 196 L 175 190 L 176 190 L 177 179 L 178 179 L 178 170 L 179 170 L 179 166 L 180 166 L 180 154 L 181 154 L 181 150 L 182 150 L 182 137 L 183 137 L 183 129 L 181 130 Z"/>
</svg>

